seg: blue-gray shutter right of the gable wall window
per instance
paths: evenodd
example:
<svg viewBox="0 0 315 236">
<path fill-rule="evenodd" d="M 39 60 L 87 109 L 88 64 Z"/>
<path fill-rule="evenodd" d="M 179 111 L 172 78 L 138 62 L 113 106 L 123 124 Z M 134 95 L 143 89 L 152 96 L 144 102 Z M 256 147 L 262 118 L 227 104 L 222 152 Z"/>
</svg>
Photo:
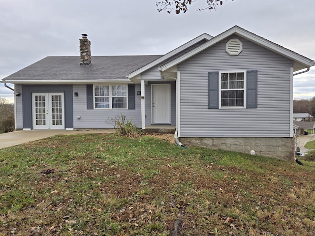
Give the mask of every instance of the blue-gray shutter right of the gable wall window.
<svg viewBox="0 0 315 236">
<path fill-rule="evenodd" d="M 257 108 L 257 70 L 248 70 L 246 108 Z"/>
</svg>

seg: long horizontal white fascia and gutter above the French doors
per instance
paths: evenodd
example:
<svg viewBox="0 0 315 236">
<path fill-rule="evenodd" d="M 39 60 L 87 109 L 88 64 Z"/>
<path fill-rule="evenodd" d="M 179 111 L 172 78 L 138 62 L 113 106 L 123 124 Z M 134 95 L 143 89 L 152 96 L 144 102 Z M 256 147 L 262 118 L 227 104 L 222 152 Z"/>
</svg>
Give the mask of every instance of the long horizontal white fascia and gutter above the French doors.
<svg viewBox="0 0 315 236">
<path fill-rule="evenodd" d="M 4 80 L 0 81 L 1 83 L 9 83 L 9 84 L 19 84 L 19 85 L 42 85 L 42 84 L 50 84 L 50 85 L 78 85 L 78 84 L 123 84 L 123 83 L 133 83 L 128 79 L 120 79 L 120 80 Z"/>
</svg>

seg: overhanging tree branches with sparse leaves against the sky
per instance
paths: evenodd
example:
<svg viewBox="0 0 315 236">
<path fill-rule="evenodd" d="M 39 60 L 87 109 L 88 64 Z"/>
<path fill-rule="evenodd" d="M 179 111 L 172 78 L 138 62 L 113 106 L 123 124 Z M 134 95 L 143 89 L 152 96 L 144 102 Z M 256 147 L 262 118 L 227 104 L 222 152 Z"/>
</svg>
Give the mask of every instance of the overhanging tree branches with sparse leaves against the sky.
<svg viewBox="0 0 315 236">
<path fill-rule="evenodd" d="M 191 5 L 192 2 L 197 0 L 162 0 L 157 2 L 158 11 L 166 11 L 167 13 L 171 13 L 175 9 L 176 14 L 185 13 L 188 11 L 188 6 Z M 201 1 L 201 0 L 199 0 Z M 206 6 L 204 8 L 197 9 L 198 11 L 202 10 L 216 10 L 217 6 L 221 6 L 223 4 L 223 0 L 204 0 L 206 1 Z M 233 0 L 232 0 L 233 1 Z"/>
</svg>

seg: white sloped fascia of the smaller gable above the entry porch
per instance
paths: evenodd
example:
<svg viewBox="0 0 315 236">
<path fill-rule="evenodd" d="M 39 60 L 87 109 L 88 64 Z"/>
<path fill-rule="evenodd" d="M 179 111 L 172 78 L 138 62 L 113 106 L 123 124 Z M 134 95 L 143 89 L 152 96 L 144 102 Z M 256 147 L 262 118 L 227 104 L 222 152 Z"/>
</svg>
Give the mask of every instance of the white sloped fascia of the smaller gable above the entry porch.
<svg viewBox="0 0 315 236">
<path fill-rule="evenodd" d="M 171 52 L 165 54 L 164 56 L 162 56 L 162 57 L 160 57 L 160 58 L 158 58 L 158 59 L 152 61 L 151 63 L 149 63 L 149 64 L 147 64 L 147 65 L 141 67 L 140 69 L 138 69 L 138 70 L 136 70 L 136 71 L 134 71 L 134 72 L 132 72 L 132 73 L 126 75 L 126 77 L 127 77 L 128 79 L 130 79 L 130 78 L 132 78 L 132 77 L 134 77 L 134 76 L 137 76 L 137 75 L 141 74 L 142 72 L 144 72 L 144 71 L 146 71 L 146 70 L 152 68 L 153 66 L 158 65 L 158 64 L 159 64 L 160 62 L 162 62 L 163 60 L 166 60 L 166 59 L 168 59 L 168 58 L 170 58 L 170 57 L 176 55 L 177 53 L 179 53 L 179 52 L 181 52 L 181 51 L 183 51 L 183 50 L 189 48 L 190 46 L 192 46 L 193 44 L 199 42 L 200 40 L 203 40 L 203 39 L 210 40 L 210 39 L 212 39 L 212 38 L 213 38 L 213 36 L 211 36 L 211 35 L 209 35 L 209 34 L 207 34 L 207 33 L 203 33 L 203 34 L 201 34 L 200 36 L 198 36 L 198 37 L 196 37 L 196 38 L 190 40 L 190 41 L 187 42 L 187 43 L 185 43 L 184 45 L 182 45 L 182 46 L 180 46 L 180 47 L 174 49 L 173 51 L 171 51 Z"/>
</svg>

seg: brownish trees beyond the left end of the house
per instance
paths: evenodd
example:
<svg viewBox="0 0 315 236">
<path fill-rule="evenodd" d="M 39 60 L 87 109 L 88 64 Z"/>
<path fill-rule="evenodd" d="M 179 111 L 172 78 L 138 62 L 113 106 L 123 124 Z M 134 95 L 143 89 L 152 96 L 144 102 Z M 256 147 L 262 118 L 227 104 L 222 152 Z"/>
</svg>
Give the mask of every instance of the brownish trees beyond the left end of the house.
<svg viewBox="0 0 315 236">
<path fill-rule="evenodd" d="M 14 131 L 14 105 L 0 97 L 0 133 Z"/>
</svg>

